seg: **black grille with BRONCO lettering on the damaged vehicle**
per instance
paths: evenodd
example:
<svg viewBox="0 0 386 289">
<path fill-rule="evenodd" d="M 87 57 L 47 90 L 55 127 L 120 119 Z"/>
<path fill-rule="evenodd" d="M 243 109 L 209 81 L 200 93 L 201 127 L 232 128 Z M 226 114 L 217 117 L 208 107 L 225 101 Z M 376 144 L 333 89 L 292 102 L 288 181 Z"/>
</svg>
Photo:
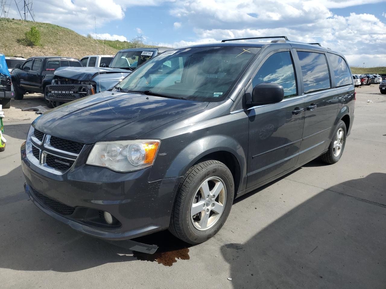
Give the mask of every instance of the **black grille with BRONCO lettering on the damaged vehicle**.
<svg viewBox="0 0 386 289">
<path fill-rule="evenodd" d="M 93 86 L 88 84 L 52 84 L 46 89 L 46 99 L 51 101 L 73 101 L 93 94 Z"/>
</svg>

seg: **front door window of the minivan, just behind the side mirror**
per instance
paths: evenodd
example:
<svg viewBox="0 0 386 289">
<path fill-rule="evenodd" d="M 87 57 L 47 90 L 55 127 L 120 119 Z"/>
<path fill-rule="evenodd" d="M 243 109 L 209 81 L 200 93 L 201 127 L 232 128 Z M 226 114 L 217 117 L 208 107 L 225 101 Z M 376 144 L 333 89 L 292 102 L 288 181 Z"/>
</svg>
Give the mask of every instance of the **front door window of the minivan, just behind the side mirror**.
<svg viewBox="0 0 386 289">
<path fill-rule="evenodd" d="M 263 82 L 277 83 L 284 88 L 284 98 L 296 96 L 296 77 L 289 51 L 278 52 L 268 57 L 252 80 L 252 86 Z"/>
</svg>

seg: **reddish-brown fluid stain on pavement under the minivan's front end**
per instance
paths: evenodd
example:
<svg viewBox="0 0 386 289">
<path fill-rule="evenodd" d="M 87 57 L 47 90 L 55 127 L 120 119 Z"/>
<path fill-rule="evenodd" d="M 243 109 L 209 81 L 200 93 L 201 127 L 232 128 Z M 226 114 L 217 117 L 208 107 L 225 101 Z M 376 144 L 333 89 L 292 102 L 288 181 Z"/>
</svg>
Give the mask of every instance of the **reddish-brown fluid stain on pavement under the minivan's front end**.
<svg viewBox="0 0 386 289">
<path fill-rule="evenodd" d="M 191 245 L 177 239 L 168 231 L 136 238 L 135 241 L 158 246 L 158 250 L 154 254 L 134 252 L 133 256 L 138 260 L 157 262 L 158 264 L 170 267 L 177 262 L 178 259 L 190 259 L 189 247 Z"/>
</svg>

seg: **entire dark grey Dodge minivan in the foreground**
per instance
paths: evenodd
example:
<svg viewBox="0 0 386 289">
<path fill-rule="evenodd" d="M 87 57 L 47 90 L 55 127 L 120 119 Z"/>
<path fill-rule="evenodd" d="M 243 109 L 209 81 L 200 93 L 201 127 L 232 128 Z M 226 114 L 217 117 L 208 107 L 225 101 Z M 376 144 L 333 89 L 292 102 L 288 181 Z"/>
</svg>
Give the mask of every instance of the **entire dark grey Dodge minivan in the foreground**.
<svg viewBox="0 0 386 289">
<path fill-rule="evenodd" d="M 346 60 L 323 47 L 223 40 L 169 50 L 115 88 L 36 119 L 21 147 L 25 191 L 95 237 L 169 229 L 198 244 L 221 229 L 234 198 L 318 156 L 339 161 L 354 100 Z"/>
</svg>

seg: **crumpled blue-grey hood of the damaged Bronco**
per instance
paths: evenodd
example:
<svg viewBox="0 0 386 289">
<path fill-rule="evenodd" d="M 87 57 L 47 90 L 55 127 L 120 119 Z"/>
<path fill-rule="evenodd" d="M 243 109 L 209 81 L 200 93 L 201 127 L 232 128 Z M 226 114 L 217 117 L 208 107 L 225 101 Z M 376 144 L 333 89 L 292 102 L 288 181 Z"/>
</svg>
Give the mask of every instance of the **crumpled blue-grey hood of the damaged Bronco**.
<svg viewBox="0 0 386 289">
<path fill-rule="evenodd" d="M 79 81 L 90 81 L 97 74 L 110 74 L 110 73 L 126 73 L 131 71 L 120 68 L 109 67 L 59 67 L 54 72 L 55 76 L 65 77 L 69 79 L 75 79 Z"/>
</svg>

